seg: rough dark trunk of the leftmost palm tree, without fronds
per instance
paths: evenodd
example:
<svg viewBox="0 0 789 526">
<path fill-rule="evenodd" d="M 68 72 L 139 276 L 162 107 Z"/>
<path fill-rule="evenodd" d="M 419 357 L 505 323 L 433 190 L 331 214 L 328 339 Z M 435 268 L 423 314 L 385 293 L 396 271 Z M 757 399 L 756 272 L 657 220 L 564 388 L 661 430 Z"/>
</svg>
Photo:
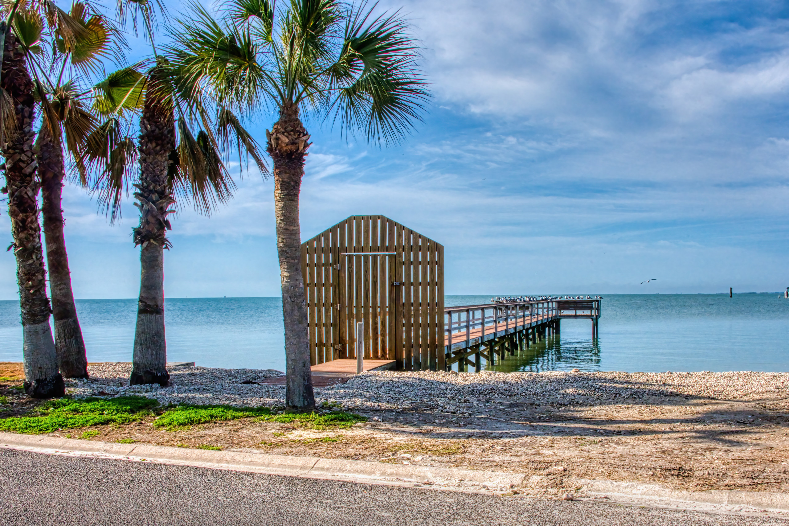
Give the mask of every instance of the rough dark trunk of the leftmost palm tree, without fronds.
<svg viewBox="0 0 789 526">
<path fill-rule="evenodd" d="M 6 158 L 8 215 L 11 219 L 13 254 L 17 257 L 17 282 L 22 314 L 24 390 L 36 398 L 63 396 L 65 385 L 58 372 L 49 325 L 47 273 L 44 271 L 41 227 L 38 216 L 39 184 L 33 151 L 35 118 L 33 84 L 16 36 L 6 33 L 3 46 L 2 88 L 10 96 L 16 129 L 9 132 L 2 155 Z"/>
</svg>

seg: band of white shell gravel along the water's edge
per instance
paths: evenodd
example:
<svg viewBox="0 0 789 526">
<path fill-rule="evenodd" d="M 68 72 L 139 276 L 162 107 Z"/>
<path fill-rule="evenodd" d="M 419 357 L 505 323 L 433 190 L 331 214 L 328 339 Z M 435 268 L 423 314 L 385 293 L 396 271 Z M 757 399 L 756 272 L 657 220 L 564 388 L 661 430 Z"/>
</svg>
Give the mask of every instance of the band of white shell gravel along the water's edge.
<svg viewBox="0 0 789 526">
<path fill-rule="evenodd" d="M 162 404 L 282 406 L 284 385 L 242 384 L 281 376 L 275 370 L 176 367 L 170 385 L 129 386 L 129 363 L 90 366 L 91 378 L 67 380 L 77 397 L 140 395 Z M 316 401 L 357 410 L 437 409 L 460 415 L 507 404 L 650 404 L 667 396 L 753 400 L 789 395 L 789 374 L 728 373 L 445 373 L 369 372 L 345 384 L 316 389 Z"/>
</svg>

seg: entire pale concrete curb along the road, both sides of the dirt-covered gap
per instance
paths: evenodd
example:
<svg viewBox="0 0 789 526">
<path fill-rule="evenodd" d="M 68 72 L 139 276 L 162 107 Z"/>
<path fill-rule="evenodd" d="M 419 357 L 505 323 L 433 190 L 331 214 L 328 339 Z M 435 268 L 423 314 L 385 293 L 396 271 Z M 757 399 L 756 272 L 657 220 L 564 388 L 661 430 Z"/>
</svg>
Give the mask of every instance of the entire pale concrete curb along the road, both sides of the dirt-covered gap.
<svg viewBox="0 0 789 526">
<path fill-rule="evenodd" d="M 525 475 L 519 473 L 479 472 L 458 468 L 432 468 L 366 462 L 364 460 L 325 459 L 316 456 L 284 456 L 264 453 L 210 451 L 172 448 L 163 445 L 117 444 L 75 440 L 41 435 L 0 433 L 0 448 L 19 449 L 50 455 L 88 456 L 224 469 L 237 472 L 286 475 L 311 479 L 350 480 L 366 483 L 428 483 L 444 489 L 467 491 L 508 491 L 523 487 Z M 579 496 L 606 495 L 612 500 L 633 499 L 653 505 L 715 505 L 731 508 L 750 506 L 789 512 L 789 494 L 761 491 L 672 490 L 656 483 L 626 483 L 611 480 L 568 479 L 581 487 Z M 695 506 L 694 506 L 695 507 Z"/>
</svg>

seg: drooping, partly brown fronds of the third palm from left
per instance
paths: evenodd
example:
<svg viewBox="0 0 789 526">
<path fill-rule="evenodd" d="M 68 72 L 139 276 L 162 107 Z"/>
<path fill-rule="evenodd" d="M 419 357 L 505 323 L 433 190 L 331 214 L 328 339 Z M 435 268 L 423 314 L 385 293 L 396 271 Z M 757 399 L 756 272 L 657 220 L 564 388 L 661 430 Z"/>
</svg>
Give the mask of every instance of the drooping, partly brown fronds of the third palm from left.
<svg viewBox="0 0 789 526">
<path fill-rule="evenodd" d="M 147 66 L 147 67 L 146 67 Z M 91 186 L 99 205 L 114 220 L 129 188 L 136 161 L 130 119 L 153 97 L 157 107 L 174 115 L 177 144 L 171 153 L 170 185 L 178 202 L 191 202 L 204 214 L 232 197 L 235 184 L 222 158 L 235 149 L 266 169 L 259 147 L 226 107 L 216 104 L 185 76 L 181 55 L 159 55 L 153 65 L 118 70 L 94 87 L 94 109 L 107 118 L 89 137 L 84 158 L 93 168 Z"/>
</svg>

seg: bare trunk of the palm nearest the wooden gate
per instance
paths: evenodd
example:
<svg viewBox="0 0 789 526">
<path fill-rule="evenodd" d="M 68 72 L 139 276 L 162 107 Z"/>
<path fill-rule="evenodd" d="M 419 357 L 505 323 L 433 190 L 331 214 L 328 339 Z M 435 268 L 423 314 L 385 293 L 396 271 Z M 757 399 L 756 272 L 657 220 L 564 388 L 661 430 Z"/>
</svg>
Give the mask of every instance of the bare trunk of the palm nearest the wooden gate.
<svg viewBox="0 0 789 526">
<path fill-rule="evenodd" d="M 266 130 L 267 152 L 274 161 L 274 213 L 277 222 L 279 276 L 282 280 L 282 315 L 285 321 L 286 411 L 315 409 L 312 393 L 307 303 L 301 276 L 301 226 L 298 197 L 309 148 L 307 130 L 298 107 L 282 107 L 279 121 Z"/>
</svg>

